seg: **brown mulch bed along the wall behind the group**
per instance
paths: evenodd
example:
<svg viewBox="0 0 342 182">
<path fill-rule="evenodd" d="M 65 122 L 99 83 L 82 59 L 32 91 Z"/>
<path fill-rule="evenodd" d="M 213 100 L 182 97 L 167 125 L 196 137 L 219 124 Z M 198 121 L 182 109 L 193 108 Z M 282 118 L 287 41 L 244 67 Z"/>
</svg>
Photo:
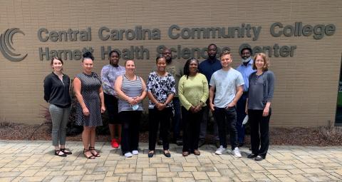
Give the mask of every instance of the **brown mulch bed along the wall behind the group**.
<svg viewBox="0 0 342 182">
<path fill-rule="evenodd" d="M 207 136 L 210 141 L 211 136 Z M 1 140 L 51 140 L 50 126 L 1 123 Z M 270 128 L 271 145 L 342 146 L 342 130 L 334 127 Z M 99 135 L 97 141 L 109 141 L 109 136 Z M 67 141 L 81 141 L 81 134 L 67 136 Z M 246 143 L 249 144 L 249 136 Z M 148 132 L 140 133 L 140 142 L 148 142 Z"/>
</svg>

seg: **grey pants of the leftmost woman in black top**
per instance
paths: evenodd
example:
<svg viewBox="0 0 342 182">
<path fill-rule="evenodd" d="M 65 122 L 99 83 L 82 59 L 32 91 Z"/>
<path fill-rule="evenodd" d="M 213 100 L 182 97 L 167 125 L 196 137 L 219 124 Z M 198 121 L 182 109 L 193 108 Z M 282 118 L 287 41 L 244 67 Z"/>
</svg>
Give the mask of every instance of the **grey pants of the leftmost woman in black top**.
<svg viewBox="0 0 342 182">
<path fill-rule="evenodd" d="M 61 146 L 66 145 L 66 124 L 68 123 L 71 106 L 68 108 L 60 108 L 50 103 L 48 108 L 52 121 L 52 145 Z M 59 141 L 59 143 L 58 143 Z"/>
</svg>

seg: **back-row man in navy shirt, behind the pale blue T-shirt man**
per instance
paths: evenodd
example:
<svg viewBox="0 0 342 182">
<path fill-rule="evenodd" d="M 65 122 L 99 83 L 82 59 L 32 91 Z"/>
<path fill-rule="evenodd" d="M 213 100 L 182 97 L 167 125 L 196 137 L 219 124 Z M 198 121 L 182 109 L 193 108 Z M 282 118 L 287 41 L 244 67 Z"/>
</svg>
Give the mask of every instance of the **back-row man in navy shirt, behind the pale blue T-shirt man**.
<svg viewBox="0 0 342 182">
<path fill-rule="evenodd" d="M 222 69 L 221 61 L 216 58 L 217 46 L 215 44 L 210 44 L 207 49 L 208 58 L 199 64 L 199 73 L 204 74 L 207 78 L 208 83 L 212 78 L 212 74 L 215 71 Z M 209 85 L 208 85 L 209 86 Z M 207 100 L 207 106 L 203 108 L 203 118 L 201 122 L 201 129 L 199 131 L 199 142 L 198 146 L 203 146 L 205 141 L 205 136 L 207 135 L 207 122 L 209 118 L 209 99 Z M 214 122 L 214 139 L 215 144 L 219 147 L 219 134 L 217 131 L 217 123 Z"/>
</svg>

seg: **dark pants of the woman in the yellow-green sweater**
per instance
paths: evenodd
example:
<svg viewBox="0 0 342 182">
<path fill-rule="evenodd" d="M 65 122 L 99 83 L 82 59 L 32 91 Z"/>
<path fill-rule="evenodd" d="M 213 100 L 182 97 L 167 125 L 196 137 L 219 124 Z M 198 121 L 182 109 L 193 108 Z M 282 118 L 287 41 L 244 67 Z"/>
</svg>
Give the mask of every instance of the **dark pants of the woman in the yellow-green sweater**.
<svg viewBox="0 0 342 182">
<path fill-rule="evenodd" d="M 203 110 L 192 113 L 182 106 L 183 151 L 193 152 L 198 149 L 199 128 Z"/>
</svg>

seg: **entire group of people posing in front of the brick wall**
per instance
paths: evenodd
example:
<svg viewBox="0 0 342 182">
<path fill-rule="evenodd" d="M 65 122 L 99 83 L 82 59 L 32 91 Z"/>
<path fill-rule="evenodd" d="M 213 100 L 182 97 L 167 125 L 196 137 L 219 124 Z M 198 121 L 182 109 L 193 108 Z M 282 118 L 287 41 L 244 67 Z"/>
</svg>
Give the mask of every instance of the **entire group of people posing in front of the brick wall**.
<svg viewBox="0 0 342 182">
<path fill-rule="evenodd" d="M 124 67 L 118 64 L 120 54 L 117 51 L 110 52 L 110 64 L 103 66 L 100 77 L 92 71 L 93 56 L 83 54 L 83 72 L 76 75 L 73 88 L 78 100 L 76 123 L 83 126 L 84 156 L 100 156 L 95 150 L 95 127 L 102 125 L 101 113 L 106 110 L 113 148 L 121 145 L 125 157 L 138 155 L 140 117 L 144 110 L 142 100 L 147 96 L 148 157 L 155 155 L 158 129 L 163 154 L 171 156 L 170 120 L 173 140 L 183 146 L 182 156 L 190 153 L 199 156 L 198 148 L 204 144 L 211 111 L 217 123 L 214 125 L 217 155 L 228 151 L 228 127 L 232 154 L 242 157 L 239 152 L 239 146 L 244 144 L 242 121 L 248 114 L 252 143 L 248 158 L 264 159 L 269 147 L 270 106 L 274 92 L 274 74 L 268 70 L 268 58 L 259 53 L 252 59 L 252 49 L 244 48 L 240 51 L 242 64 L 236 70 L 231 66 L 233 58 L 229 51 L 222 52 L 217 59 L 217 46 L 210 44 L 207 54 L 208 59 L 200 64 L 191 58 L 183 66 L 172 61 L 170 49 L 164 49 L 155 59 L 155 70 L 149 74 L 146 84 L 135 74 L 135 61 L 125 61 Z M 70 79 L 62 72 L 61 59 L 53 58 L 51 66 L 53 73 L 44 80 L 44 99 L 50 103 L 55 155 L 66 156 L 71 154 L 65 148 L 66 123 L 71 108 Z"/>
</svg>

